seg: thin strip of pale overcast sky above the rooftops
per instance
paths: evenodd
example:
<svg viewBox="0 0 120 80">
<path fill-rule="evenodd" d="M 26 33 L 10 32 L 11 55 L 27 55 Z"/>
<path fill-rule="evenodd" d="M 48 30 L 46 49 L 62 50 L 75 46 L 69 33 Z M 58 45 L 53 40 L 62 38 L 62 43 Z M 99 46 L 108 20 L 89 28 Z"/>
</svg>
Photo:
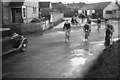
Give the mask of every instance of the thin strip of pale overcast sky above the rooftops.
<svg viewBox="0 0 120 80">
<path fill-rule="evenodd" d="M 85 3 L 96 3 L 96 2 L 115 2 L 116 0 L 40 0 L 40 1 L 50 1 L 50 2 L 63 2 L 63 3 L 77 3 L 77 2 L 85 2 Z M 120 1 L 120 0 L 118 0 Z"/>
</svg>

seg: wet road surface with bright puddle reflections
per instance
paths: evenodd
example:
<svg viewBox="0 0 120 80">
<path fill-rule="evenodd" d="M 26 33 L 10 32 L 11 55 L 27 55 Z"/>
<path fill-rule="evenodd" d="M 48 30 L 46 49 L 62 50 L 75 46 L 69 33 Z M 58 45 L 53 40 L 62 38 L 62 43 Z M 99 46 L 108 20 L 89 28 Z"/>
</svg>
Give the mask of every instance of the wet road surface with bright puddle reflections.
<svg viewBox="0 0 120 80">
<path fill-rule="evenodd" d="M 118 36 L 118 22 L 114 21 Z M 98 32 L 92 24 L 88 43 L 84 42 L 81 28 L 74 27 L 70 42 L 64 40 L 61 26 L 44 33 L 28 37 L 26 52 L 12 52 L 3 56 L 3 77 L 5 78 L 81 78 L 93 61 L 104 49 L 104 25 Z"/>
</svg>

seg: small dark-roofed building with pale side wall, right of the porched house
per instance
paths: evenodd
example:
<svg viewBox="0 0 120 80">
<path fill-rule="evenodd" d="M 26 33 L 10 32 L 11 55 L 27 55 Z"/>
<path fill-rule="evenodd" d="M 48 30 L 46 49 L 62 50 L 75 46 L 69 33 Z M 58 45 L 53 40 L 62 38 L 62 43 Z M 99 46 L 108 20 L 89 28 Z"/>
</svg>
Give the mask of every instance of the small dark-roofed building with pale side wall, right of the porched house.
<svg viewBox="0 0 120 80">
<path fill-rule="evenodd" d="M 39 17 L 45 17 L 50 23 L 63 19 L 64 15 L 51 2 L 39 2 Z"/>
</svg>

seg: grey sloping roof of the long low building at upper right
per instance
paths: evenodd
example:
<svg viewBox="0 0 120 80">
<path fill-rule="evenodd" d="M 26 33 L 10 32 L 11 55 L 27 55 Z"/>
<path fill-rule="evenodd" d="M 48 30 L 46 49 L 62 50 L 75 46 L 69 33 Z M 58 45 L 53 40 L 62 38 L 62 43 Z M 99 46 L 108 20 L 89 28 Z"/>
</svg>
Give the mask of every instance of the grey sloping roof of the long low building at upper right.
<svg viewBox="0 0 120 80">
<path fill-rule="evenodd" d="M 85 4 L 80 9 L 81 10 L 93 10 L 93 9 L 104 9 L 107 7 L 111 2 L 101 2 L 101 3 L 91 3 Z"/>
</svg>

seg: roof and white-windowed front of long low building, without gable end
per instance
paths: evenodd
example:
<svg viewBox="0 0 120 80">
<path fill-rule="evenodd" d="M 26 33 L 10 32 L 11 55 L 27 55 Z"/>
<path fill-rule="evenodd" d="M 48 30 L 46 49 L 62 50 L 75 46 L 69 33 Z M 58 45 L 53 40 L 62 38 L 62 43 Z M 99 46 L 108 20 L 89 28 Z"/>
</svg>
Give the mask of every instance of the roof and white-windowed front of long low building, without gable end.
<svg viewBox="0 0 120 80">
<path fill-rule="evenodd" d="M 100 3 L 90 3 L 85 4 L 79 9 L 79 12 L 83 13 L 84 15 L 99 15 L 103 17 L 104 9 L 110 5 L 111 2 L 100 2 Z"/>
</svg>

